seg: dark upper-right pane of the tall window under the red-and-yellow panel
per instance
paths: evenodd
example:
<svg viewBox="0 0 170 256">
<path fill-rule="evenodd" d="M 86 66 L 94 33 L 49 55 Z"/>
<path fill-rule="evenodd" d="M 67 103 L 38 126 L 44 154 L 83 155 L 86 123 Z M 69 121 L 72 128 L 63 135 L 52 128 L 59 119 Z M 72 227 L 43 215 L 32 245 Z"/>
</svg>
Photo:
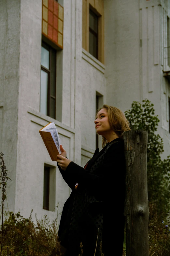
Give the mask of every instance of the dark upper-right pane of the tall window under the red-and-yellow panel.
<svg viewBox="0 0 170 256">
<path fill-rule="evenodd" d="M 55 69 L 56 69 L 56 51 L 51 50 L 51 67 L 50 67 L 50 95 L 55 97 Z"/>
</svg>

